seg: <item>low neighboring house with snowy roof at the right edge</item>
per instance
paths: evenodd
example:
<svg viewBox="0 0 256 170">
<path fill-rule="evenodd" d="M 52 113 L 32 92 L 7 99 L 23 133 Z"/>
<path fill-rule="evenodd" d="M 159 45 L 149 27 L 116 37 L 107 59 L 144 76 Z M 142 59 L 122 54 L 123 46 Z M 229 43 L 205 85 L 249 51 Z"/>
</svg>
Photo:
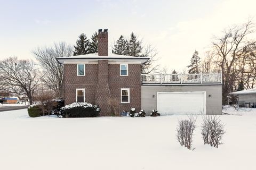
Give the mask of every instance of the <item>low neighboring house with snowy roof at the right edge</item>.
<svg viewBox="0 0 256 170">
<path fill-rule="evenodd" d="M 230 95 L 235 95 L 238 97 L 239 105 L 256 107 L 256 88 L 231 92 Z"/>
</svg>

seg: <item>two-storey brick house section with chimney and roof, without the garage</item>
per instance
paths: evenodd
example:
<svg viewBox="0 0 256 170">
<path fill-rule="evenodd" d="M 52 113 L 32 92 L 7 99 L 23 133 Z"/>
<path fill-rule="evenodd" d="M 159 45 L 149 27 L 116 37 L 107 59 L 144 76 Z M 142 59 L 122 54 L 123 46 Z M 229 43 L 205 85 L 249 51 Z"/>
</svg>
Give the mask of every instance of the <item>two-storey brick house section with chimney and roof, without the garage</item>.
<svg viewBox="0 0 256 170">
<path fill-rule="evenodd" d="M 140 65 L 149 58 L 109 54 L 107 30 L 98 39 L 98 53 L 58 58 L 65 68 L 65 104 L 96 104 L 102 116 L 110 115 L 110 99 L 119 101 L 119 112 L 140 109 Z"/>
</svg>

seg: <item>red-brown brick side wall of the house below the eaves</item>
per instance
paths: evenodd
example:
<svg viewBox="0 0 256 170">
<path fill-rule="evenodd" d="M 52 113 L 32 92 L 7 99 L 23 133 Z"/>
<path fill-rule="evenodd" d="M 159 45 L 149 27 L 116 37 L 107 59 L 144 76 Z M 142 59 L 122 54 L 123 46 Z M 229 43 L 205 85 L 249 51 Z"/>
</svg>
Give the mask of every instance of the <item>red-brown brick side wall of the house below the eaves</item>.
<svg viewBox="0 0 256 170">
<path fill-rule="evenodd" d="M 129 75 L 120 76 L 120 64 L 108 64 L 102 60 L 99 64 L 85 64 L 85 76 L 77 76 L 76 64 L 65 64 L 65 105 L 76 102 L 76 89 L 84 88 L 85 101 L 99 105 L 102 116 L 110 115 L 110 96 L 119 101 L 119 112 L 130 111 L 132 107 L 139 112 L 140 64 L 129 64 L 128 68 Z M 121 88 L 130 88 L 130 103 L 121 104 Z"/>
</svg>

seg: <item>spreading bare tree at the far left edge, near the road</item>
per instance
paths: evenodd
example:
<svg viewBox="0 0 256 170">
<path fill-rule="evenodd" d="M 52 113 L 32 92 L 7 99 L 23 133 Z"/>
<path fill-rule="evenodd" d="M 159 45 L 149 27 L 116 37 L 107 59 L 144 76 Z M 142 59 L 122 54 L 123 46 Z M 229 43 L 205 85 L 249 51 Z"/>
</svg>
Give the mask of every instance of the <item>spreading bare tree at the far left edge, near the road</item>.
<svg viewBox="0 0 256 170">
<path fill-rule="evenodd" d="M 40 80 L 34 62 L 9 57 L 0 61 L 0 70 L 2 89 L 17 95 L 27 95 L 31 105 Z"/>
</svg>

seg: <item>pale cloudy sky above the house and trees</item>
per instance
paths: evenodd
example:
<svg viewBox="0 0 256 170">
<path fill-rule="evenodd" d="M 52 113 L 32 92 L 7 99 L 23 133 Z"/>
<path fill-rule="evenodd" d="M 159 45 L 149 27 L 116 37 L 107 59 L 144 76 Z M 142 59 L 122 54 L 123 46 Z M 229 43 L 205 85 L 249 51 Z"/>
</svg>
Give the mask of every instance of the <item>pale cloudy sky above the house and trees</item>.
<svg viewBox="0 0 256 170">
<path fill-rule="evenodd" d="M 0 0 L 0 59 L 34 58 L 31 50 L 66 41 L 74 45 L 108 29 L 109 50 L 120 35 L 133 31 L 151 44 L 169 71 L 182 71 L 195 49 L 202 57 L 214 35 L 249 18 L 255 21 L 255 0 L 170 1 L 3 1 Z"/>
</svg>

